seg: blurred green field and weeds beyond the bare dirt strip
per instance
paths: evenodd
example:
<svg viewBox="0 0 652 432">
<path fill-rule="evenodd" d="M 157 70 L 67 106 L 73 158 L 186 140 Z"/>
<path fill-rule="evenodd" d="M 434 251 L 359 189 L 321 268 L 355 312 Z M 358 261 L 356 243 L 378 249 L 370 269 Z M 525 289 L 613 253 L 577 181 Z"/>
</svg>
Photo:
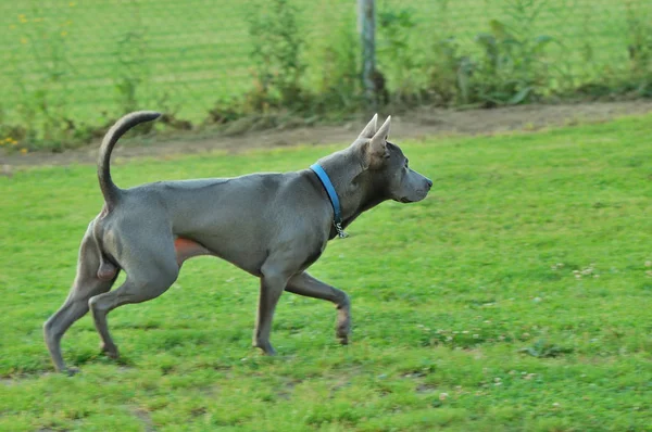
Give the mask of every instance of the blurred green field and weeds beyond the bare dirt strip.
<svg viewBox="0 0 652 432">
<path fill-rule="evenodd" d="M 165 113 L 159 128 L 228 134 L 365 111 L 349 0 L 0 12 L 0 145 L 16 151 L 79 145 L 137 109 Z M 647 0 L 377 1 L 376 27 L 384 111 L 652 97 Z"/>
</svg>

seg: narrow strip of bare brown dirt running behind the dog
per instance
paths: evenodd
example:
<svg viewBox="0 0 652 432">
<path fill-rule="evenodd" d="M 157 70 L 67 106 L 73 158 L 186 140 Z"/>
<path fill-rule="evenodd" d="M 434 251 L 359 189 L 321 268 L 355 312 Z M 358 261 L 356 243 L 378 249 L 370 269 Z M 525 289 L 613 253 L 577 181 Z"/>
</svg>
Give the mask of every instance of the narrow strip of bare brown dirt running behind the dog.
<svg viewBox="0 0 652 432">
<path fill-rule="evenodd" d="M 522 105 L 494 110 L 454 111 L 423 107 L 392 116 L 391 135 L 401 142 L 437 135 L 481 135 L 510 130 L 537 130 L 548 126 L 600 123 L 624 115 L 652 112 L 652 101 L 577 103 L 565 105 Z M 125 139 L 114 151 L 114 158 L 165 157 L 206 153 L 215 150 L 239 152 L 256 148 L 297 144 L 349 143 L 366 122 L 339 126 L 299 127 L 243 134 L 237 137 L 187 132 L 176 138 Z M 0 175 L 11 176 L 20 166 L 96 163 L 99 142 L 63 153 L 35 152 L 0 154 Z"/>
</svg>

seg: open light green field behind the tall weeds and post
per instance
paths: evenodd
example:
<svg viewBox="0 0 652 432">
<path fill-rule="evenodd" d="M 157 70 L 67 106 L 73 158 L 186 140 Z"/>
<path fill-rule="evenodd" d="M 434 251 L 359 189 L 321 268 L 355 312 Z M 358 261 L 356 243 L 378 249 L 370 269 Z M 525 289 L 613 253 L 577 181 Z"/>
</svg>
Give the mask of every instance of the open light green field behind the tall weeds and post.
<svg viewBox="0 0 652 432">
<path fill-rule="evenodd" d="M 299 8 L 310 88 L 333 67 L 325 65 L 325 47 L 341 42 L 337 34 L 342 25 L 355 25 L 355 2 L 292 3 Z M 510 17 L 514 8 L 507 4 L 522 4 L 522 16 Z M 555 38 L 548 47 L 548 61 L 557 82 L 569 77 L 578 82 L 615 78 L 629 67 L 627 47 L 634 29 L 628 4 L 641 22 L 652 17 L 652 5 L 644 0 L 379 0 L 379 14 L 406 9 L 414 27 L 401 30 L 408 34 L 408 46 L 398 52 L 387 50 L 386 33 L 379 27 L 378 62 L 388 86 L 396 88 L 405 79 L 397 74 L 408 62 L 431 62 L 437 40 L 454 36 L 462 53 L 472 47 L 478 50 L 474 37 L 498 18 L 523 25 L 534 36 Z M 526 21 L 524 16 L 539 5 L 536 18 Z M 135 98 L 138 107 L 166 104 L 181 117 L 202 120 L 217 100 L 241 97 L 253 88 L 247 20 L 255 8 L 254 2 L 225 0 L 3 2 L 0 107 L 8 119 L 22 124 L 29 124 L 29 111 L 47 106 L 59 116 L 97 126 L 104 120 L 102 113 L 122 115 L 129 111 L 125 100 Z M 416 69 L 409 74 L 415 79 L 427 75 Z"/>
</svg>

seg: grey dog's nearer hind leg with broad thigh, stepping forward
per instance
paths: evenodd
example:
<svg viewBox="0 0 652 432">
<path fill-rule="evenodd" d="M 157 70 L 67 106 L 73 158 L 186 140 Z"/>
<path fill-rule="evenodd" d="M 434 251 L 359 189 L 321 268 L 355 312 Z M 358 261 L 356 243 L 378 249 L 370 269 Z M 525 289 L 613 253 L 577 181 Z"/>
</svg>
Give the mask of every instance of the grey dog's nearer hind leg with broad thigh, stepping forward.
<svg viewBox="0 0 652 432">
<path fill-rule="evenodd" d="M 125 282 L 116 290 L 96 295 L 88 302 L 102 340 L 102 351 L 113 358 L 118 356 L 118 352 L 109 332 L 106 315 L 118 306 L 158 297 L 167 291 L 179 274 L 172 236 L 150 236 L 147 241 L 142 240 L 142 236 L 125 236 L 129 244 L 121 246 L 126 251 L 126 256 L 116 259 L 121 265 L 124 262 L 127 274 Z"/>
</svg>

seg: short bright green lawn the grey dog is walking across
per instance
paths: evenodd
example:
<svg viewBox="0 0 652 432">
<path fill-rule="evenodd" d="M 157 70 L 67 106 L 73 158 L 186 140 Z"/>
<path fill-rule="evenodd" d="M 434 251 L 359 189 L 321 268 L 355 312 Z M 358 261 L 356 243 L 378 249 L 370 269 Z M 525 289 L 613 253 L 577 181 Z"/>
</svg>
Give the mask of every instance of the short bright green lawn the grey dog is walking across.
<svg viewBox="0 0 652 432">
<path fill-rule="evenodd" d="M 41 325 L 101 207 L 95 169 L 0 177 L 0 430 L 650 431 L 651 120 L 402 143 L 428 199 L 363 215 L 312 268 L 351 294 L 350 346 L 330 305 L 286 293 L 279 356 L 260 356 L 256 280 L 203 257 L 111 314 L 121 361 L 78 321 L 74 378 L 52 373 Z M 340 147 L 113 171 L 127 187 L 290 170 Z"/>
</svg>

